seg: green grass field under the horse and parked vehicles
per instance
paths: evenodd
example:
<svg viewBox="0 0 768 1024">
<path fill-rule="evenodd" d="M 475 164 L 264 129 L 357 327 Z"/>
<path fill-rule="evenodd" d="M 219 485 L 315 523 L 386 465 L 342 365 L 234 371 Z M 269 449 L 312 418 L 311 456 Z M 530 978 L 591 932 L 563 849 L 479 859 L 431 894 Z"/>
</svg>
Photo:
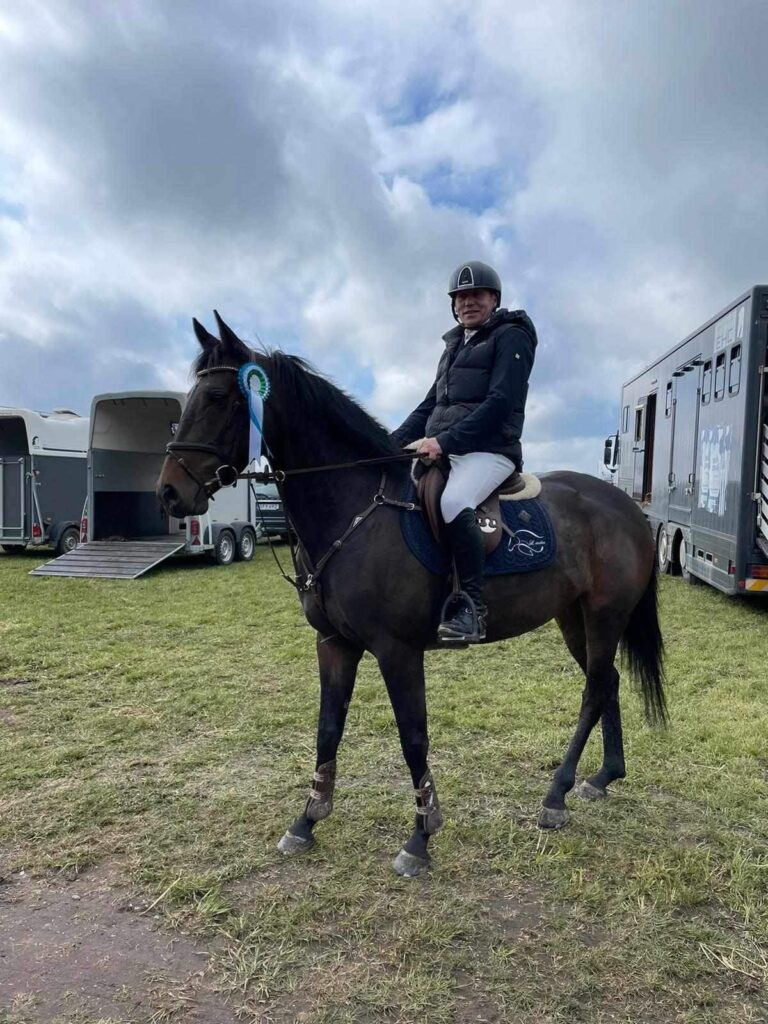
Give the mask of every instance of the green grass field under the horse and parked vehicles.
<svg viewBox="0 0 768 1024">
<path fill-rule="evenodd" d="M 582 686 L 556 628 L 428 654 L 446 824 L 408 881 L 390 861 L 410 779 L 370 657 L 334 815 L 303 858 L 275 850 L 313 766 L 317 685 L 267 550 L 130 583 L 30 579 L 39 560 L 0 557 L 6 881 L 109 866 L 211 951 L 244 1020 L 768 1020 L 768 604 L 663 581 L 671 728 L 643 723 L 625 680 L 628 777 L 602 804 L 571 798 L 556 834 L 536 814 Z M 599 758 L 593 737 L 583 774 Z M 30 1006 L 0 1021 L 41 1020 Z M 167 997 L 148 1019 L 187 1011 Z"/>
</svg>

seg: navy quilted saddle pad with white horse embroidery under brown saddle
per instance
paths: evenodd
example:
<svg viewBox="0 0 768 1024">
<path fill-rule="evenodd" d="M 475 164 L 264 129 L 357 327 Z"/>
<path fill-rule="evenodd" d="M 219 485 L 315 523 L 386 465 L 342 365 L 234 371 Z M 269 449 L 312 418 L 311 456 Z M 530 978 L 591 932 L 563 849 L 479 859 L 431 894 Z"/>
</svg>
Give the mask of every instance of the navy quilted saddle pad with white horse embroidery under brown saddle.
<svg viewBox="0 0 768 1024">
<path fill-rule="evenodd" d="M 409 480 L 402 498 L 417 501 L 416 487 Z M 546 568 L 557 554 L 557 540 L 545 504 L 538 498 L 501 502 L 502 515 L 514 538 L 504 534 L 499 547 L 485 559 L 486 577 L 508 572 L 532 572 Z M 400 512 L 400 529 L 406 544 L 422 565 L 439 575 L 451 569 L 447 553 L 432 537 L 421 512 Z"/>
</svg>

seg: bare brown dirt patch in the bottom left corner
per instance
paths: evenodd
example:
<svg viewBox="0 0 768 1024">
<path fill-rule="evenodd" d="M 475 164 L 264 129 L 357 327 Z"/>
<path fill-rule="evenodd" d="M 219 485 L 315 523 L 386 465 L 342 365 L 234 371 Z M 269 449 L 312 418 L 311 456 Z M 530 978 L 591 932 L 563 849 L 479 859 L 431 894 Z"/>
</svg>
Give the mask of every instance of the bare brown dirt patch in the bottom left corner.
<svg viewBox="0 0 768 1024">
<path fill-rule="evenodd" d="M 236 1024 L 209 951 L 160 928 L 103 866 L 0 884 L 0 1024 Z"/>
</svg>

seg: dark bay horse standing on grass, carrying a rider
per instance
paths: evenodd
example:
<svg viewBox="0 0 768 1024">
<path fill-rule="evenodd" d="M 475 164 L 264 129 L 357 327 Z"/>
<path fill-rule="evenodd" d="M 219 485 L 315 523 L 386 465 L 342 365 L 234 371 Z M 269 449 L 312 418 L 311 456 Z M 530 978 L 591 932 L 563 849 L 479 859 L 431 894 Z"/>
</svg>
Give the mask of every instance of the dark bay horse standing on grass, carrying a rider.
<svg viewBox="0 0 768 1024">
<path fill-rule="evenodd" d="M 370 651 L 386 684 L 416 797 L 413 833 L 393 866 L 398 874 L 419 874 L 429 864 L 429 839 L 442 823 L 427 763 L 424 651 L 435 645 L 445 580 L 422 566 L 401 535 L 410 463 L 397 461 L 401 453 L 384 427 L 307 362 L 278 350 L 252 351 L 215 315 L 218 338 L 193 322 L 202 348 L 197 382 L 168 445 L 157 494 L 171 515 L 199 515 L 222 483 L 244 471 L 249 412 L 239 370 L 258 364 L 271 385 L 263 436 L 298 538 L 297 590 L 316 631 L 321 683 L 312 784 L 279 848 L 286 854 L 307 849 L 315 824 L 333 809 L 336 754 L 357 665 Z M 382 464 L 323 470 L 367 459 Z M 585 674 L 575 732 L 539 816 L 542 827 L 559 828 L 568 820 L 565 795 L 598 721 L 602 767 L 578 792 L 600 799 L 625 776 L 614 667 L 620 645 L 639 682 L 646 719 L 666 722 L 664 644 L 654 546 L 639 508 L 617 487 L 586 474 L 552 472 L 541 482 L 558 539 L 556 557 L 539 571 L 486 579 L 485 642 L 555 618 Z"/>
</svg>

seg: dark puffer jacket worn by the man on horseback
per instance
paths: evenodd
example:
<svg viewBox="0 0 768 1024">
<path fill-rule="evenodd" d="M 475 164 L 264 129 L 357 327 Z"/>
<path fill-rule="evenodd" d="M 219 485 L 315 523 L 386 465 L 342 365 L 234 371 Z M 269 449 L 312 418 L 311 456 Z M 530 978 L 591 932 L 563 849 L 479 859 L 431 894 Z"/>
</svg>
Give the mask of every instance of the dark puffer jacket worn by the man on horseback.
<svg viewBox="0 0 768 1024">
<path fill-rule="evenodd" d="M 522 309 L 497 309 L 464 343 L 459 325 L 424 400 L 392 434 L 397 444 L 436 437 L 445 455 L 494 452 L 522 468 L 520 437 L 536 328 Z"/>
</svg>

